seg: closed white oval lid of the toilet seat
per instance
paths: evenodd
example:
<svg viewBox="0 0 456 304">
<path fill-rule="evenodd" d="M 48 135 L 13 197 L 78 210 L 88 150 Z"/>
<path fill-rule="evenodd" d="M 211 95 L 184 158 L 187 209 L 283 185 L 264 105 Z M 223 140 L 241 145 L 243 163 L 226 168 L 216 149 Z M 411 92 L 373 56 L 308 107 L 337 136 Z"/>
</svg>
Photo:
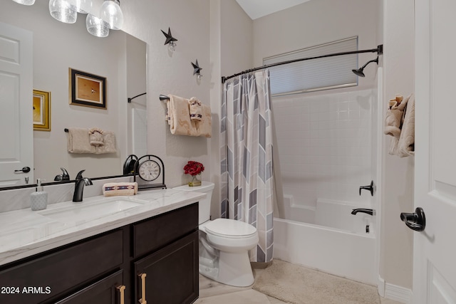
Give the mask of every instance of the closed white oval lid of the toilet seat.
<svg viewBox="0 0 456 304">
<path fill-rule="evenodd" d="M 214 219 L 206 225 L 206 232 L 215 236 L 228 238 L 242 238 L 257 233 L 257 229 L 251 224 L 234 219 Z"/>
</svg>

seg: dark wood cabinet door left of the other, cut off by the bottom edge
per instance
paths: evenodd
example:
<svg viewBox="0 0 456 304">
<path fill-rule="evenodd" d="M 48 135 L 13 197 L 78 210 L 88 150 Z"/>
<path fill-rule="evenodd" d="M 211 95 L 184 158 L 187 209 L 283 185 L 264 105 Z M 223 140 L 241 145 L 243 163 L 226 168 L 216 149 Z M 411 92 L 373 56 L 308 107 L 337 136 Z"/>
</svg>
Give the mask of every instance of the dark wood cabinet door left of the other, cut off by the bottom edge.
<svg viewBox="0 0 456 304">
<path fill-rule="evenodd" d="M 123 304 L 124 293 L 123 271 L 117 271 L 56 304 Z"/>
</svg>

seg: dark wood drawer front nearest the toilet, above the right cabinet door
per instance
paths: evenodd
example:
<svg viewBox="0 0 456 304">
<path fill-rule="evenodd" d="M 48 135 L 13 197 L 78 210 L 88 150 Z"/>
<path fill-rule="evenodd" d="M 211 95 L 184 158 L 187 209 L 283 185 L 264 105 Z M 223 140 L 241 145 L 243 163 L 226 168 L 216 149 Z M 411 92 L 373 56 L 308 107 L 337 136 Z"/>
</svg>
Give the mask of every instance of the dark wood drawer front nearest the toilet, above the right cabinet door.
<svg viewBox="0 0 456 304">
<path fill-rule="evenodd" d="M 165 246 L 198 227 L 198 203 L 133 225 L 133 257 Z"/>
</svg>

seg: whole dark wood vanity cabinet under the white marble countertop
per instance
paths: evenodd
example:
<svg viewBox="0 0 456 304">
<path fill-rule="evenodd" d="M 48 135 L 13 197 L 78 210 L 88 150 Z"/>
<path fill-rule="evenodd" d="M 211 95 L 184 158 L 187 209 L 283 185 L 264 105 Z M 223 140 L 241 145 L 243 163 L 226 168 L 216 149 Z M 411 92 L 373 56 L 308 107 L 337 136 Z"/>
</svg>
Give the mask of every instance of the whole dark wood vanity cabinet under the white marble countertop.
<svg viewBox="0 0 456 304">
<path fill-rule="evenodd" d="M 192 303 L 198 204 L 0 266 L 0 303 Z"/>
</svg>

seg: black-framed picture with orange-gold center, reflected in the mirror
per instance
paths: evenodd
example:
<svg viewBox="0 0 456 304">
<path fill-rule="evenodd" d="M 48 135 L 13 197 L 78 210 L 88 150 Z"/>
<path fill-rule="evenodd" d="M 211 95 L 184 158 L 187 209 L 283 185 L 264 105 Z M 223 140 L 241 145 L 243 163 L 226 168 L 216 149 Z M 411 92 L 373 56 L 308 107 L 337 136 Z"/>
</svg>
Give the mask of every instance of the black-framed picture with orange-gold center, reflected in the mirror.
<svg viewBox="0 0 456 304">
<path fill-rule="evenodd" d="M 70 68 L 70 105 L 106 109 L 106 78 Z"/>
</svg>

